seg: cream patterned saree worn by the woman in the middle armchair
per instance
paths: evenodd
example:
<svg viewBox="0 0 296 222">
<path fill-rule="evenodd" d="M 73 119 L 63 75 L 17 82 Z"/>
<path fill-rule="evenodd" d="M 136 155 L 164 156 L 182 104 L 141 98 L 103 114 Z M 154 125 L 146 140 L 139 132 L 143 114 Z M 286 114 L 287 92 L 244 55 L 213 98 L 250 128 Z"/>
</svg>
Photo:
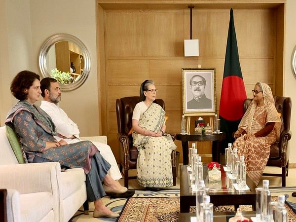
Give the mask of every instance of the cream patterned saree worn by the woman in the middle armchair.
<svg viewBox="0 0 296 222">
<path fill-rule="evenodd" d="M 163 126 L 165 111 L 152 103 L 140 116 L 139 126 L 159 132 Z M 173 185 L 172 149 L 176 149 L 171 135 L 162 137 L 144 136 L 133 132 L 133 143 L 138 149 L 137 180 L 144 187 L 168 187 Z"/>
</svg>

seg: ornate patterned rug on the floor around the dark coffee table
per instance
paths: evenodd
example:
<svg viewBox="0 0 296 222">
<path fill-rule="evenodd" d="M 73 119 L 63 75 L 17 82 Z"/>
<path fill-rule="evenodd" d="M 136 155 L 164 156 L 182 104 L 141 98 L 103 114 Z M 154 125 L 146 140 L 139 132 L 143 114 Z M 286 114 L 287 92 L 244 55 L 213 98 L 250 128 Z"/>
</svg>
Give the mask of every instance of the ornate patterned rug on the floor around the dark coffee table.
<svg viewBox="0 0 296 222">
<path fill-rule="evenodd" d="M 276 196 L 285 194 L 281 188 L 278 192 L 272 191 L 272 201 L 276 201 Z M 286 192 L 287 193 L 287 192 Z M 129 199 L 104 197 L 104 204 L 113 212 L 120 213 L 119 219 L 109 218 L 93 218 L 93 204 L 90 204 L 90 214 L 84 215 L 83 211 L 77 212 L 72 222 L 178 222 L 178 214 L 180 213 L 180 193 L 179 189 L 167 189 L 158 192 L 147 190 L 136 190 L 135 195 Z M 294 202 L 291 198 L 291 191 L 286 194 L 287 201 Z M 294 197 L 295 198 L 295 197 Z M 287 203 L 287 202 L 286 202 Z M 289 222 L 296 222 L 296 215 L 293 210 L 285 205 L 288 210 Z M 240 206 L 243 211 L 252 211 L 251 206 Z M 234 212 L 233 206 L 219 206 L 215 208 L 217 212 Z M 195 212 L 194 207 L 190 212 Z"/>
</svg>

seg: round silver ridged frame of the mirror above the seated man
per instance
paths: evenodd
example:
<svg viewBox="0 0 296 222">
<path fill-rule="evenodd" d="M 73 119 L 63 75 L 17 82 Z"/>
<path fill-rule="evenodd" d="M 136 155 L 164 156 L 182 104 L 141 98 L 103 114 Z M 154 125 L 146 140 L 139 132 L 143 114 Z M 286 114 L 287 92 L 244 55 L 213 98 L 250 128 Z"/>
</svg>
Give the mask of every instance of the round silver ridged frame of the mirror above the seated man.
<svg viewBox="0 0 296 222">
<path fill-rule="evenodd" d="M 46 56 L 47 53 L 50 49 L 51 46 L 53 46 L 55 43 L 60 42 L 60 41 L 72 41 L 74 44 L 76 44 L 79 49 L 81 49 L 81 52 L 83 54 L 83 59 L 84 59 L 84 67 L 83 67 L 83 72 L 80 76 L 80 78 L 70 84 L 60 84 L 61 89 L 65 91 L 70 91 L 78 88 L 81 86 L 84 81 L 87 79 L 89 73 L 90 73 L 90 54 L 86 48 L 86 46 L 83 44 L 83 42 L 77 38 L 74 37 L 70 34 L 56 34 L 53 35 L 49 38 L 46 39 L 46 41 L 43 43 L 40 49 L 40 54 L 39 54 L 39 69 L 43 77 L 51 77 L 50 76 L 50 71 L 48 70 L 46 66 Z M 70 65 L 69 65 L 70 66 Z"/>
</svg>

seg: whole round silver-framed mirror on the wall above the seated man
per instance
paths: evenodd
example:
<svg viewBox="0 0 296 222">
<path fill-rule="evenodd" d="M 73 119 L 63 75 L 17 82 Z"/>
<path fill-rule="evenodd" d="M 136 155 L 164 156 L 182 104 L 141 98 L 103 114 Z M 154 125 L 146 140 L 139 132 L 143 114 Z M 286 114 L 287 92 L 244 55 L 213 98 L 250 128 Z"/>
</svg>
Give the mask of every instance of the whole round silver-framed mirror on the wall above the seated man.
<svg viewBox="0 0 296 222">
<path fill-rule="evenodd" d="M 90 55 L 79 38 L 57 34 L 49 37 L 41 46 L 39 68 L 43 77 L 57 79 L 62 90 L 73 90 L 88 77 Z"/>
</svg>

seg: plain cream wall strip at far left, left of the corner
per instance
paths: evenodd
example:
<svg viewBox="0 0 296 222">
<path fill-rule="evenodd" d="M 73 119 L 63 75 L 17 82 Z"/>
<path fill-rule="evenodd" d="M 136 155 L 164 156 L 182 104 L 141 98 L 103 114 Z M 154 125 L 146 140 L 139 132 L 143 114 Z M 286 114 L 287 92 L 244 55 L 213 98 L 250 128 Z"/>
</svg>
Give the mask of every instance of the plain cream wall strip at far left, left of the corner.
<svg viewBox="0 0 296 222">
<path fill-rule="evenodd" d="M 10 82 L 18 72 L 32 69 L 29 0 L 0 0 L 0 125 L 16 99 Z"/>
</svg>

